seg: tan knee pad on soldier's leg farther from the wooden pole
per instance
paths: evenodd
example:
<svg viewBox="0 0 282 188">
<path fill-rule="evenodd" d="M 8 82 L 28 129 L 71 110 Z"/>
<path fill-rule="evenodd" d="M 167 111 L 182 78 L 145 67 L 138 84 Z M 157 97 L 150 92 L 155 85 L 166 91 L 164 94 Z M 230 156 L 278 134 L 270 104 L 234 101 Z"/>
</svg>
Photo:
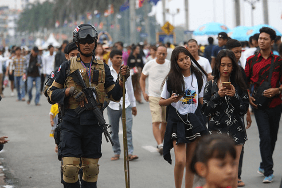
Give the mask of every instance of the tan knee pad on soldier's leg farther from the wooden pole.
<svg viewBox="0 0 282 188">
<path fill-rule="evenodd" d="M 80 169 L 80 158 L 63 157 L 62 158 L 63 180 L 66 183 L 75 183 L 78 181 L 78 171 Z"/>
</svg>

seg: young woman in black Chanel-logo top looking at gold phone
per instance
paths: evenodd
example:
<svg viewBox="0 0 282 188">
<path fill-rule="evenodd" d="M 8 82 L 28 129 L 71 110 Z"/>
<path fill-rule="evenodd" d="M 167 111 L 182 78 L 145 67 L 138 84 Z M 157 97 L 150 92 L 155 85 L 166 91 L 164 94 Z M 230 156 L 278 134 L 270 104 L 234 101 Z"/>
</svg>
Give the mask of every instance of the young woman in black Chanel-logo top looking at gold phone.
<svg viewBox="0 0 282 188">
<path fill-rule="evenodd" d="M 242 146 L 248 140 L 243 119 L 249 107 L 247 86 L 231 50 L 221 50 L 217 54 L 214 70 L 213 80 L 209 81 L 204 89 L 202 110 L 210 118 L 208 122 L 210 135 L 227 134 L 235 141 L 238 173 Z M 235 179 L 231 186 L 235 188 L 237 185 Z"/>
</svg>

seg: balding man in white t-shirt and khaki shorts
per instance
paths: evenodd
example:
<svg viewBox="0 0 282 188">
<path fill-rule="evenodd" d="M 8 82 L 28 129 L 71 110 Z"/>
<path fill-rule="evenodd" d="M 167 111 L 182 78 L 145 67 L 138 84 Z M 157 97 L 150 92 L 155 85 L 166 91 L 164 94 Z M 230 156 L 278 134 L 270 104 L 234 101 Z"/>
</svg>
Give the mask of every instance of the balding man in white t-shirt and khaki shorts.
<svg viewBox="0 0 282 188">
<path fill-rule="evenodd" d="M 146 101 L 149 101 L 153 123 L 153 134 L 157 141 L 158 152 L 163 154 L 163 140 L 166 131 L 166 107 L 161 107 L 160 94 L 162 93 L 161 85 L 169 72 L 170 61 L 166 59 L 166 47 L 158 46 L 156 57 L 145 64 L 140 77 L 140 87 Z M 149 77 L 149 87 L 147 94 L 145 92 L 146 78 Z M 160 127 L 161 124 L 161 127 Z"/>
</svg>

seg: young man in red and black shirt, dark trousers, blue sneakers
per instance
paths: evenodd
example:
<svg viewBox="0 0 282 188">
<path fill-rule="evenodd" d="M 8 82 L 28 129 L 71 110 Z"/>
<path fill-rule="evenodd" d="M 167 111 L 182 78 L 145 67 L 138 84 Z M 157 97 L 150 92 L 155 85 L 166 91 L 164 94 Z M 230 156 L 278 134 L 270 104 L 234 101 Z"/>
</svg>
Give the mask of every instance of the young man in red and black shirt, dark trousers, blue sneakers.
<svg viewBox="0 0 282 188">
<path fill-rule="evenodd" d="M 250 105 L 252 105 L 255 114 L 255 120 L 259 130 L 259 147 L 262 162 L 260 163 L 258 173 L 264 175 L 263 183 L 271 183 L 273 179 L 273 160 L 272 154 L 277 140 L 279 121 L 282 112 L 282 59 L 271 51 L 276 32 L 269 27 L 262 27 L 259 30 L 258 44 L 260 51 L 248 57 L 245 67 L 246 76 L 249 83 L 254 84 L 254 92 L 264 81 L 268 80 L 270 64 L 274 62 L 271 88 L 263 92 L 263 96 L 271 98 L 266 107 L 258 107 L 254 94 L 250 96 Z"/>
</svg>

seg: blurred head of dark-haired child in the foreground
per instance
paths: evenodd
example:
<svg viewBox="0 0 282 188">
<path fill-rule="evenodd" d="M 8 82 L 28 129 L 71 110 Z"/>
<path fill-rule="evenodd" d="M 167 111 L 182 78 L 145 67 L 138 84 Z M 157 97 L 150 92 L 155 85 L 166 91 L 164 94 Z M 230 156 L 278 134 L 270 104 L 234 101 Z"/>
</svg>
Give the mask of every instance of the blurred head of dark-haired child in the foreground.
<svg viewBox="0 0 282 188">
<path fill-rule="evenodd" d="M 216 187 L 230 186 L 236 172 L 235 143 L 222 135 L 206 136 L 199 141 L 191 162 L 191 171 Z"/>
</svg>

